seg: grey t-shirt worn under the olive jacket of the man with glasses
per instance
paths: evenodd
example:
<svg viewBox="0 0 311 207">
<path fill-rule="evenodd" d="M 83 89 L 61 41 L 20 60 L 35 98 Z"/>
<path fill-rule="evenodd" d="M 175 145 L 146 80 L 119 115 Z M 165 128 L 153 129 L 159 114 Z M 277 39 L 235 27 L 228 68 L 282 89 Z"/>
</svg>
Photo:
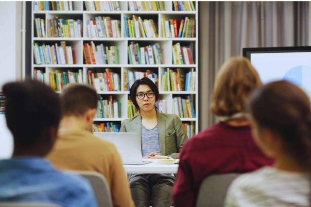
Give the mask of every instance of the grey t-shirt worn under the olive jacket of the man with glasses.
<svg viewBox="0 0 311 207">
<path fill-rule="evenodd" d="M 141 125 L 141 150 L 142 156 L 149 155 L 151 152 L 161 155 L 157 125 L 150 130 Z"/>
</svg>

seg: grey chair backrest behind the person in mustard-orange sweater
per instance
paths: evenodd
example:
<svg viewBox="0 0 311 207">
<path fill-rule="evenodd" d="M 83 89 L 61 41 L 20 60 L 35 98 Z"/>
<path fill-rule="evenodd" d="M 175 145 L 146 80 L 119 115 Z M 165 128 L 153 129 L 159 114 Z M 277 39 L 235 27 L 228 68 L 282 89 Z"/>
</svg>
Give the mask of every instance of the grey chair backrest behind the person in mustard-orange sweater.
<svg viewBox="0 0 311 207">
<path fill-rule="evenodd" d="M 106 178 L 100 173 L 92 171 L 72 171 L 90 182 L 96 197 L 98 207 L 113 207 L 110 190 Z"/>
</svg>

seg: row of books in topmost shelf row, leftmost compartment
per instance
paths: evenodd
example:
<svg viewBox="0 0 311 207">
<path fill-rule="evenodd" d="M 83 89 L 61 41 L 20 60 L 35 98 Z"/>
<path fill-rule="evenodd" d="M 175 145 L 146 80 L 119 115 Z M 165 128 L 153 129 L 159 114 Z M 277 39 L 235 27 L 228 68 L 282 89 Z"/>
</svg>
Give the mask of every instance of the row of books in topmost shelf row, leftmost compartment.
<svg viewBox="0 0 311 207">
<path fill-rule="evenodd" d="M 73 1 L 34 1 L 34 11 L 72 11 Z"/>
</svg>

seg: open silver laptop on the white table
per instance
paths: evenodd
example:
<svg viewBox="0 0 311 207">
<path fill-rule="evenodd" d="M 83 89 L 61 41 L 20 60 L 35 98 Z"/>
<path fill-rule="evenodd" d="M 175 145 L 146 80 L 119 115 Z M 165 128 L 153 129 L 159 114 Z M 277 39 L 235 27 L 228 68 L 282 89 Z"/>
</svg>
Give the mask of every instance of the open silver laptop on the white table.
<svg viewBox="0 0 311 207">
<path fill-rule="evenodd" d="M 147 164 L 150 161 L 143 161 L 141 154 L 141 138 L 139 133 L 133 132 L 94 132 L 105 141 L 113 143 L 121 155 L 123 164 Z"/>
</svg>

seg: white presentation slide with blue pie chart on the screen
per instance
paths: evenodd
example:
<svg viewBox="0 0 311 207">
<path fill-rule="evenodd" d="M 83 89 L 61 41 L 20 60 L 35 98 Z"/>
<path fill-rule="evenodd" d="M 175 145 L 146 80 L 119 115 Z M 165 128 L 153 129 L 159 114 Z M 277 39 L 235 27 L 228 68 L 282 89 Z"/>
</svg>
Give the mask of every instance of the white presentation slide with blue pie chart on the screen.
<svg viewBox="0 0 311 207">
<path fill-rule="evenodd" d="M 288 80 L 311 97 L 311 52 L 253 53 L 251 63 L 263 83 Z"/>
</svg>

